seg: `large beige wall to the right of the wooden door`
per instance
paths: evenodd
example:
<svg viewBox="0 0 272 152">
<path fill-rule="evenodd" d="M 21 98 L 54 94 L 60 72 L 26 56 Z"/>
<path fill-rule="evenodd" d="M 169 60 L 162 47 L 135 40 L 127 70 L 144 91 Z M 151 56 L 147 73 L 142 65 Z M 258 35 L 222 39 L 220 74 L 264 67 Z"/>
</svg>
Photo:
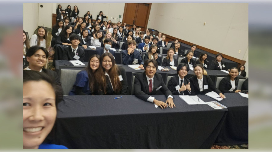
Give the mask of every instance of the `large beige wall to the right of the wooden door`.
<svg viewBox="0 0 272 152">
<path fill-rule="evenodd" d="M 246 3 L 153 3 L 147 28 L 237 59 L 248 55 Z"/>
</svg>

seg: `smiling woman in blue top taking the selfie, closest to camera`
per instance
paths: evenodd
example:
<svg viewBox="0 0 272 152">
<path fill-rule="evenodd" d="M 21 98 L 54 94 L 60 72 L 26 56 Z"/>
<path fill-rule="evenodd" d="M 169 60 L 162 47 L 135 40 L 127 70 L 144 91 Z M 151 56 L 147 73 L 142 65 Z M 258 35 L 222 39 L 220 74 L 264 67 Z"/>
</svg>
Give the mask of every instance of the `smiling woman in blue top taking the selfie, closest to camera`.
<svg viewBox="0 0 272 152">
<path fill-rule="evenodd" d="M 63 98 L 62 88 L 52 81 L 52 77 L 38 71 L 24 70 L 23 76 L 23 148 L 68 149 L 44 143 L 57 117 L 57 105 Z"/>
</svg>

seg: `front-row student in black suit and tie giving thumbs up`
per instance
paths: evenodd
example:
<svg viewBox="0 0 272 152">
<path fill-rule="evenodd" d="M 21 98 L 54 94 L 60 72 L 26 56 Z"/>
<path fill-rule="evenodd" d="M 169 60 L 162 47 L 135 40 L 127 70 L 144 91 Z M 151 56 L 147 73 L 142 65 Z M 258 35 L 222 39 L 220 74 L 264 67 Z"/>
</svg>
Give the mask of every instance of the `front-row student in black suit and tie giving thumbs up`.
<svg viewBox="0 0 272 152">
<path fill-rule="evenodd" d="M 190 80 L 185 78 L 188 72 L 189 66 L 185 63 L 180 63 L 176 67 L 176 76 L 173 76 L 168 82 L 168 88 L 173 95 L 190 95 Z"/>
</svg>

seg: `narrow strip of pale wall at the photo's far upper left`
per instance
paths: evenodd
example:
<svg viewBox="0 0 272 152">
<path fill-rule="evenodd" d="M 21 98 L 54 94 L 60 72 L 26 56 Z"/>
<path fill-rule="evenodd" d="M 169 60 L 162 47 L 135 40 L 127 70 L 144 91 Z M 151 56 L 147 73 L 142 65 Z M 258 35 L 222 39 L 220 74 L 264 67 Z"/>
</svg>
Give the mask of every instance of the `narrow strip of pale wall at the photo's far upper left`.
<svg viewBox="0 0 272 152">
<path fill-rule="evenodd" d="M 30 38 L 38 27 L 38 3 L 24 3 L 23 7 L 24 31 Z"/>
</svg>

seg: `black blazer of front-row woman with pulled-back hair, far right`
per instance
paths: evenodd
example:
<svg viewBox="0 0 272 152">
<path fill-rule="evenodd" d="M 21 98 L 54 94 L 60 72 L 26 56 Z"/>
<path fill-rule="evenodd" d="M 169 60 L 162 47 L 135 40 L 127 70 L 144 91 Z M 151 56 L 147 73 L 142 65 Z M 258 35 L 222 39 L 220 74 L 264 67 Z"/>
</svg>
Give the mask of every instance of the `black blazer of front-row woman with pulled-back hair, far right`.
<svg viewBox="0 0 272 152">
<path fill-rule="evenodd" d="M 239 82 L 239 78 L 236 77 L 234 79 L 235 81 L 235 89 L 233 91 L 229 91 L 232 88 L 232 84 L 230 82 L 230 76 L 223 78 L 220 83 L 219 83 L 219 90 L 222 93 L 235 93 L 235 90 L 237 90 L 237 86 L 238 86 L 238 82 Z"/>
</svg>

